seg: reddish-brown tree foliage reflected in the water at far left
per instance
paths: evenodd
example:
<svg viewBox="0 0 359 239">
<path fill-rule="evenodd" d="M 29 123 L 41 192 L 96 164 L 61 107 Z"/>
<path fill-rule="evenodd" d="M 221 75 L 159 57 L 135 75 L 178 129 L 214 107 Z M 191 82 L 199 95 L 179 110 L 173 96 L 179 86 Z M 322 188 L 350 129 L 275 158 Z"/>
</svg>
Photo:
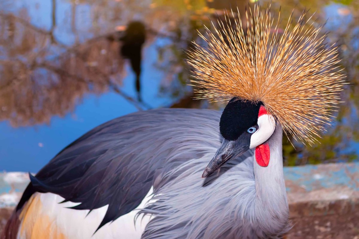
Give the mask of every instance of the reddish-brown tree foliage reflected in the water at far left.
<svg viewBox="0 0 359 239">
<path fill-rule="evenodd" d="M 50 122 L 71 112 L 85 93 L 121 84 L 123 59 L 106 39 L 68 47 L 12 14 L 1 16 L 1 120 L 13 126 Z"/>
</svg>

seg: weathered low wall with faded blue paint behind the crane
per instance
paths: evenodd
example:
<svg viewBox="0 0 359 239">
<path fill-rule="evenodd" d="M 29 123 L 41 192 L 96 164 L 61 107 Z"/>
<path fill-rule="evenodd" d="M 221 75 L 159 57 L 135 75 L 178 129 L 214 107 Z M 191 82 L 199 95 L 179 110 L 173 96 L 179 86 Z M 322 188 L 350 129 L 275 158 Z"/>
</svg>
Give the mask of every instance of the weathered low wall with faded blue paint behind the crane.
<svg viewBox="0 0 359 239">
<path fill-rule="evenodd" d="M 293 228 L 286 238 L 359 239 L 359 163 L 284 168 Z M 0 231 L 29 181 L 0 173 Z"/>
</svg>

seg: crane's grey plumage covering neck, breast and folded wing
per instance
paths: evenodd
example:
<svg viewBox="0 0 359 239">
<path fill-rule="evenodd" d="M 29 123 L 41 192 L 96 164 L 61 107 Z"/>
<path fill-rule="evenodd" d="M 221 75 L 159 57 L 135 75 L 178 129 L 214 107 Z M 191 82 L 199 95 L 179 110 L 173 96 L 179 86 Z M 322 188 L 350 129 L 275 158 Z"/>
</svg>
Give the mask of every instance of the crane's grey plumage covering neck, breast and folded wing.
<svg viewBox="0 0 359 239">
<path fill-rule="evenodd" d="M 258 166 L 251 149 L 203 179 L 222 141 L 219 118 L 220 112 L 196 109 L 117 118 L 69 145 L 31 186 L 81 202 L 75 209 L 109 204 L 99 227 L 136 208 L 153 186 L 155 201 L 137 218 L 155 216 L 143 239 L 279 237 L 288 229 L 280 125 L 271 137 L 269 167 Z"/>
</svg>

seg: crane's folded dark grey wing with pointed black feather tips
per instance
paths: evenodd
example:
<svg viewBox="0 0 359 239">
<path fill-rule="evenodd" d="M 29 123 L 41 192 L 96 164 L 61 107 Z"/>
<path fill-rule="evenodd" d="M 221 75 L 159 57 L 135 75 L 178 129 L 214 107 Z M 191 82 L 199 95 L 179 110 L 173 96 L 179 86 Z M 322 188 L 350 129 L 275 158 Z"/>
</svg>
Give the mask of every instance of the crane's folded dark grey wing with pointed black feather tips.
<svg viewBox="0 0 359 239">
<path fill-rule="evenodd" d="M 104 123 L 31 176 L 17 210 L 35 192 L 80 203 L 74 209 L 108 205 L 99 229 L 135 209 L 151 186 L 159 186 L 158 176 L 218 148 L 219 118 L 219 112 L 210 110 L 156 109 Z"/>
</svg>

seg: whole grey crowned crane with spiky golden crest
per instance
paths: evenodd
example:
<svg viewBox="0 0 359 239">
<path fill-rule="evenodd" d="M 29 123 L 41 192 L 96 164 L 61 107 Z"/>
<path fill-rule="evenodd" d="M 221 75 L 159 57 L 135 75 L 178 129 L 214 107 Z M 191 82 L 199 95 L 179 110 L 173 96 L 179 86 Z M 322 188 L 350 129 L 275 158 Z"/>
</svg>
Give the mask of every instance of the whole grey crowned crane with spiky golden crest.
<svg viewBox="0 0 359 239">
<path fill-rule="evenodd" d="M 313 143 L 345 84 L 305 16 L 279 35 L 256 5 L 247 26 L 207 29 L 188 62 L 200 95 L 232 98 L 222 114 L 155 109 L 94 128 L 30 175 L 1 238 L 279 238 L 283 130 Z"/>
</svg>

